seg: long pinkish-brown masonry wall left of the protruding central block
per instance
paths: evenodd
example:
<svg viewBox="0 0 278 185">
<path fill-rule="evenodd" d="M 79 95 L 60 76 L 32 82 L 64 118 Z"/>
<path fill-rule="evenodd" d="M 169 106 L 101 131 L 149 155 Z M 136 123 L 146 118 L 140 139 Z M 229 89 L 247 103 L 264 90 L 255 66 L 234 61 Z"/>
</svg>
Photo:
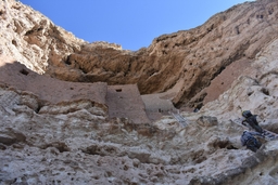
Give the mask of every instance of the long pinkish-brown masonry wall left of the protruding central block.
<svg viewBox="0 0 278 185">
<path fill-rule="evenodd" d="M 3 63 L 0 68 L 0 83 L 10 88 L 34 93 L 46 104 L 88 100 L 100 106 L 105 105 L 106 83 L 65 82 L 38 75 L 18 62 Z"/>
</svg>

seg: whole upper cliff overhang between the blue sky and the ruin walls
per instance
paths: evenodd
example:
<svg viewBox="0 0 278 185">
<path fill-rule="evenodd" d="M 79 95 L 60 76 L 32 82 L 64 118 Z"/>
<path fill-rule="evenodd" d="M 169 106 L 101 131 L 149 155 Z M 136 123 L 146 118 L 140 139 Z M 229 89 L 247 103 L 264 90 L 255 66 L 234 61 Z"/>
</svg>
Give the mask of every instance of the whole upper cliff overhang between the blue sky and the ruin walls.
<svg viewBox="0 0 278 185">
<path fill-rule="evenodd" d="M 164 92 L 182 81 L 172 97 L 178 107 L 201 105 L 206 93 L 195 95 L 211 80 L 233 62 L 254 60 L 277 37 L 276 1 L 236 5 L 197 28 L 157 37 L 136 52 L 105 42 L 87 43 L 39 12 L 13 0 L 5 2 L 1 15 L 5 55 L 62 80 L 137 83 L 141 94 Z"/>
</svg>

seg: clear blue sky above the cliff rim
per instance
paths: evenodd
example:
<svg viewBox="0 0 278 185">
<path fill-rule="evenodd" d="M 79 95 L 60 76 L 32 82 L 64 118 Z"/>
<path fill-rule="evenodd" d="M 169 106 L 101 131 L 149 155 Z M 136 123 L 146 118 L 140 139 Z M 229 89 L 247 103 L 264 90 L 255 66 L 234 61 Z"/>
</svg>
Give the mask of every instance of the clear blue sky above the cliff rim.
<svg viewBox="0 0 278 185">
<path fill-rule="evenodd" d="M 88 42 L 108 41 L 125 50 L 149 47 L 163 34 L 202 25 L 244 0 L 21 0 L 55 25 Z"/>
</svg>

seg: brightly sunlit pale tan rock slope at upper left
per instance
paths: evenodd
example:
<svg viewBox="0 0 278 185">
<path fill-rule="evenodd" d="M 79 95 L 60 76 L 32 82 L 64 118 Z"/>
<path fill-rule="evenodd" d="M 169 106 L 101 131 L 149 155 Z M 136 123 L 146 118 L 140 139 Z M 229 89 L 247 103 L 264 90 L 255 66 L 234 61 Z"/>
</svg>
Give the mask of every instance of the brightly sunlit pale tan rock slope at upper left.
<svg viewBox="0 0 278 185">
<path fill-rule="evenodd" d="M 20 1 L 1 1 L 0 12 L 0 53 L 39 74 L 86 43 Z"/>
</svg>

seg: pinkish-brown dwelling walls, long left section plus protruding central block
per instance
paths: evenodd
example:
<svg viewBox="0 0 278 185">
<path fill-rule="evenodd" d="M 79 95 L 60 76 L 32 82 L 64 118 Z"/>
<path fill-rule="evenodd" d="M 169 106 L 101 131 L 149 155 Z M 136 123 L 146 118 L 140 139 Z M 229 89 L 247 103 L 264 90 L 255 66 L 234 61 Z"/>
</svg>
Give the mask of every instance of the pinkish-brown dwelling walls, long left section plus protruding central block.
<svg viewBox="0 0 278 185">
<path fill-rule="evenodd" d="M 34 93 L 40 100 L 37 107 L 39 113 L 50 111 L 46 105 L 66 106 L 71 102 L 90 101 L 108 111 L 110 118 L 126 118 L 134 123 L 150 122 L 136 84 L 108 87 L 104 82 L 67 82 L 40 76 L 18 62 L 0 64 L 0 84 Z M 5 100 L 9 103 L 16 101 L 15 94 L 10 94 Z M 7 106 L 4 102 L 2 106 Z"/>
</svg>

